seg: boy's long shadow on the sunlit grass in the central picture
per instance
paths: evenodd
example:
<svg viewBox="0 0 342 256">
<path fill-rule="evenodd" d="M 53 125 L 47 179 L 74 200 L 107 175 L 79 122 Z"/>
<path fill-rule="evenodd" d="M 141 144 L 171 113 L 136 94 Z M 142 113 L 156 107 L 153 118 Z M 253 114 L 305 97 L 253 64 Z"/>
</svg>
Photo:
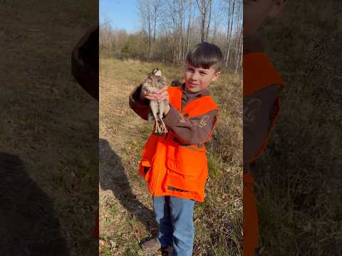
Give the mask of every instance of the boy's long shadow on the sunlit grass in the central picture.
<svg viewBox="0 0 342 256">
<path fill-rule="evenodd" d="M 113 151 L 105 139 L 100 139 L 100 161 L 104 164 L 115 166 L 113 168 L 100 168 L 100 186 L 103 190 L 113 191 L 121 205 L 137 220 L 145 225 L 146 230 L 155 235 L 157 224 L 155 223 L 154 213 L 146 208 L 133 193 L 128 181 L 128 174 L 125 171 L 120 156 Z"/>
</svg>

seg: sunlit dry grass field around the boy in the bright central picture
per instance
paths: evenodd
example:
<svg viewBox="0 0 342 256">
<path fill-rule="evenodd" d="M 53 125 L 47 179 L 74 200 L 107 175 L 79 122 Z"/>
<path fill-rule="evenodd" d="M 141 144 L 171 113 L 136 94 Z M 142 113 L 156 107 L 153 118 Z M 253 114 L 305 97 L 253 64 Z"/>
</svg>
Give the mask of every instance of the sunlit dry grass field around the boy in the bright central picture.
<svg viewBox="0 0 342 256">
<path fill-rule="evenodd" d="M 138 162 L 152 129 L 130 109 L 128 95 L 158 67 L 169 82 L 182 67 L 100 58 L 100 255 L 141 255 L 140 240 L 157 227 Z M 219 105 L 207 144 L 205 203 L 195 205 L 194 255 L 242 255 L 242 81 L 224 73 L 211 87 Z"/>
</svg>

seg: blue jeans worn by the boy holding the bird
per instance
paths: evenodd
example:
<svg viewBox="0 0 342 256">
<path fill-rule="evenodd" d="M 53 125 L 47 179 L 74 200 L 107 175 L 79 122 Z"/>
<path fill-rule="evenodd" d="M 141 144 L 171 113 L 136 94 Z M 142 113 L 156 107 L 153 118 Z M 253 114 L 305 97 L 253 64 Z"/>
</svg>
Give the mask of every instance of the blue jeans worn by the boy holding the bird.
<svg viewBox="0 0 342 256">
<path fill-rule="evenodd" d="M 191 256 L 195 201 L 174 196 L 154 196 L 152 200 L 159 225 L 157 241 L 162 247 L 173 245 L 173 256 Z"/>
</svg>

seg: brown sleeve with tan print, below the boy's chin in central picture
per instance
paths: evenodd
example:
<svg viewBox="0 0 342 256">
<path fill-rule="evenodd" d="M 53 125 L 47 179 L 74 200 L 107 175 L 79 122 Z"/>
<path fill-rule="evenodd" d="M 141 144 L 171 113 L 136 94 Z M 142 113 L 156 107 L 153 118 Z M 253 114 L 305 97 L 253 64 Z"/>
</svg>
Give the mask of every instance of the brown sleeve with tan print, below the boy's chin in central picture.
<svg viewBox="0 0 342 256">
<path fill-rule="evenodd" d="M 183 117 L 170 103 L 170 111 L 162 119 L 183 143 L 203 144 L 214 128 L 217 110 L 196 117 Z"/>
</svg>

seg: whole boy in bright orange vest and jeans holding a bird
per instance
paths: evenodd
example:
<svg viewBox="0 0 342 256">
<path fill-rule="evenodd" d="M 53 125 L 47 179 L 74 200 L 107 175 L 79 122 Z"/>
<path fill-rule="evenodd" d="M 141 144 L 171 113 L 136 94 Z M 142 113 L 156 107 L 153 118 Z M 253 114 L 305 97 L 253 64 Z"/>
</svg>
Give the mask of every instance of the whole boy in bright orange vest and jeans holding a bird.
<svg viewBox="0 0 342 256">
<path fill-rule="evenodd" d="M 139 85 L 130 95 L 130 107 L 145 120 L 149 100 L 169 100 L 163 118 L 169 132 L 150 134 L 139 166 L 159 225 L 157 238 L 142 245 L 147 253 L 173 247 L 172 255 L 192 255 L 194 203 L 204 201 L 208 176 L 204 142 L 212 134 L 219 110 L 207 87 L 219 78 L 221 64 L 217 46 L 199 43 L 187 55 L 181 87 L 148 94 Z"/>
</svg>

